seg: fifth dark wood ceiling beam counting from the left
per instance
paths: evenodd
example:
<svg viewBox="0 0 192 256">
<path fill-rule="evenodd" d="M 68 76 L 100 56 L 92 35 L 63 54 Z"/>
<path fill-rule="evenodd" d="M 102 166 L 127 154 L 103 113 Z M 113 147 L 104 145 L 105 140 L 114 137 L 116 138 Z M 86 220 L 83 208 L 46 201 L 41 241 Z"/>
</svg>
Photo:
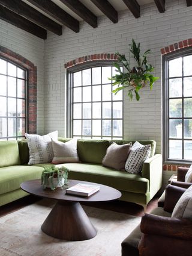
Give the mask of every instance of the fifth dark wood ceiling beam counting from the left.
<svg viewBox="0 0 192 256">
<path fill-rule="evenodd" d="M 91 0 L 113 23 L 118 22 L 118 12 L 107 0 Z"/>
</svg>

